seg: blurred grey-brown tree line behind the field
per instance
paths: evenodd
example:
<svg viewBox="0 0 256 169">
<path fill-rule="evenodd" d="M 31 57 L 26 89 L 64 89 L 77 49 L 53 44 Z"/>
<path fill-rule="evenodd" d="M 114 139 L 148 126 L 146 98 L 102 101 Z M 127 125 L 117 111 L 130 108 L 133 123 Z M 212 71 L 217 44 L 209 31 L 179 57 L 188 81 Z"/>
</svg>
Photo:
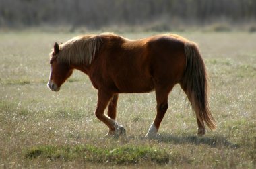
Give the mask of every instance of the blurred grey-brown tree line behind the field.
<svg viewBox="0 0 256 169">
<path fill-rule="evenodd" d="M 254 22 L 256 0 L 0 0 L 0 27 Z"/>
</svg>

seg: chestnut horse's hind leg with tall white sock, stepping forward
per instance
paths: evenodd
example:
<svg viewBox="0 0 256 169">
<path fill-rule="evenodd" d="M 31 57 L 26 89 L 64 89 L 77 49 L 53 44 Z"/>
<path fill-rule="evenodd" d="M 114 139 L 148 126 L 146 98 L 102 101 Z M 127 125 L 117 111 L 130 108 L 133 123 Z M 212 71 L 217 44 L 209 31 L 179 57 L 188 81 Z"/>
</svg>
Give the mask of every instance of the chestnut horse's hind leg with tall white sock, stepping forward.
<svg viewBox="0 0 256 169">
<path fill-rule="evenodd" d="M 160 123 L 168 109 L 168 95 L 172 87 L 156 87 L 156 117 L 150 126 L 146 137 L 156 137 Z"/>
</svg>

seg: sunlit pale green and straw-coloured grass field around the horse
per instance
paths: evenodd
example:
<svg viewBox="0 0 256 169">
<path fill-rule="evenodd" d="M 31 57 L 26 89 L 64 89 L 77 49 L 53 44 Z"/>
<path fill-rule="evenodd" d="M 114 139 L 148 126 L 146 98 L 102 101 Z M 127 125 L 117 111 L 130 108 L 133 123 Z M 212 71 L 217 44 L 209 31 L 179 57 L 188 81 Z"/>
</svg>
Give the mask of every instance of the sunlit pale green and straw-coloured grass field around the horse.
<svg viewBox="0 0 256 169">
<path fill-rule="evenodd" d="M 123 33 L 143 38 L 154 32 Z M 199 44 L 210 76 L 216 131 L 197 137 L 179 86 L 158 139 L 144 139 L 156 113 L 154 93 L 119 96 L 127 137 L 104 137 L 94 116 L 97 91 L 76 71 L 53 93 L 46 87 L 54 42 L 75 33 L 0 33 L 0 168 L 255 168 L 256 34 L 180 32 Z"/>
</svg>

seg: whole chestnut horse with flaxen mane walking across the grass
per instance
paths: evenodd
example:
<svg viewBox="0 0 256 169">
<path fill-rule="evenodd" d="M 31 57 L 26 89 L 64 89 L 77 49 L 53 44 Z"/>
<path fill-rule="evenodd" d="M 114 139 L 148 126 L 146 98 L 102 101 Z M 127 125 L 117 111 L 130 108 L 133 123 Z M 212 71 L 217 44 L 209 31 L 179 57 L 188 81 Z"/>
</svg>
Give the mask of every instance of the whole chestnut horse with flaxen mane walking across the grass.
<svg viewBox="0 0 256 169">
<path fill-rule="evenodd" d="M 98 89 L 95 115 L 108 126 L 108 135 L 125 133 L 116 121 L 119 93 L 155 91 L 156 117 L 146 137 L 156 136 L 175 84 L 181 85 L 195 111 L 197 135 L 205 134 L 205 123 L 216 128 L 207 101 L 205 64 L 197 45 L 181 36 L 161 34 L 141 40 L 109 33 L 78 36 L 55 43 L 50 55 L 48 87 L 59 91 L 74 69 L 87 74 Z"/>
</svg>

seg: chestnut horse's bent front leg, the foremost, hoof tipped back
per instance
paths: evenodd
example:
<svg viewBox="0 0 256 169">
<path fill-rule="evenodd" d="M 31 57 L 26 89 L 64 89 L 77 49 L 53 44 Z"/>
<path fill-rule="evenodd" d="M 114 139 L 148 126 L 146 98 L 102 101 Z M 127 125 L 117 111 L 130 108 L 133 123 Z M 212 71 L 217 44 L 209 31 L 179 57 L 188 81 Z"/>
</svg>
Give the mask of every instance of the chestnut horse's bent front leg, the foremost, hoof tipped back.
<svg viewBox="0 0 256 169">
<path fill-rule="evenodd" d="M 117 122 L 115 121 L 116 115 L 111 114 L 110 117 L 108 117 L 104 114 L 104 110 L 106 109 L 106 106 L 108 105 L 110 99 L 112 99 L 110 102 L 110 107 L 113 108 L 113 105 L 111 105 L 112 103 L 115 103 L 115 107 L 116 107 L 117 98 L 118 97 L 115 95 L 113 97 L 113 93 L 108 93 L 105 91 L 98 91 L 98 103 L 97 103 L 95 115 L 100 121 L 102 121 L 103 123 L 105 123 L 108 126 L 111 135 L 115 135 L 115 136 L 119 137 L 119 135 L 125 133 L 125 129 L 123 128 L 123 126 L 118 125 Z M 108 113 L 110 113 L 109 112 L 110 107 L 108 107 Z M 114 118 L 112 118 L 112 117 L 114 117 Z"/>
</svg>

